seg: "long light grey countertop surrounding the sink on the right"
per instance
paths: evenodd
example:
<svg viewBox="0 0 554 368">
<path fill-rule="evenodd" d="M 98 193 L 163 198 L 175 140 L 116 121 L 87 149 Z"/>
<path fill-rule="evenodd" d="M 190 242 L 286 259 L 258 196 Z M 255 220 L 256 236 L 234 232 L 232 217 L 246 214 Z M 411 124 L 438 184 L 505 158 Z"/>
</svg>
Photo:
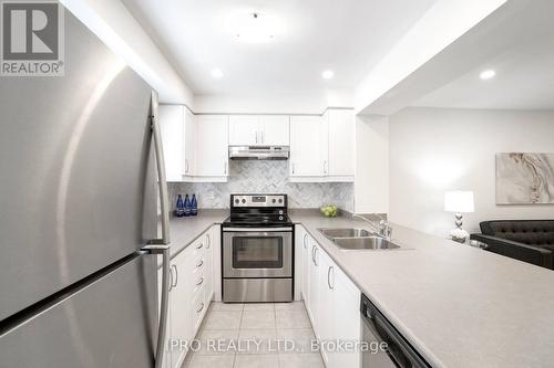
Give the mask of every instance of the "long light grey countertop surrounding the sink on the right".
<svg viewBox="0 0 554 368">
<path fill-rule="evenodd" d="M 433 367 L 554 367 L 554 272 L 392 223 L 411 249 L 345 251 L 318 228 L 361 220 L 293 211 Z"/>
</svg>

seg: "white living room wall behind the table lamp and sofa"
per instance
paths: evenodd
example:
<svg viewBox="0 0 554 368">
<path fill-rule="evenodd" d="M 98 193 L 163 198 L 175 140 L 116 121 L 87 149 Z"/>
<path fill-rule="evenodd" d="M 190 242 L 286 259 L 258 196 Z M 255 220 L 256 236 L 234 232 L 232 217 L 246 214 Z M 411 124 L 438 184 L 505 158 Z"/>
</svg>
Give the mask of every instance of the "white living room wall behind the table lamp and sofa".
<svg viewBox="0 0 554 368">
<path fill-rule="evenodd" d="M 444 191 L 473 190 L 464 228 L 493 219 L 552 219 L 554 206 L 496 206 L 495 154 L 554 151 L 554 112 L 407 108 L 390 117 L 392 221 L 447 236 Z"/>
</svg>

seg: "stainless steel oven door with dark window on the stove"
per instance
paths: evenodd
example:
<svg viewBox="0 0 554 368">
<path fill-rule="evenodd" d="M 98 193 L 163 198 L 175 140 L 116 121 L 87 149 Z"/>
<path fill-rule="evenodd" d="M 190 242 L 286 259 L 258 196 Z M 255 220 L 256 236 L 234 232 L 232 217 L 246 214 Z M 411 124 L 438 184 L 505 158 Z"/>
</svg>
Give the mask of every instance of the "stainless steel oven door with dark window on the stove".
<svg viewBox="0 0 554 368">
<path fill-rule="evenodd" d="M 293 277 L 293 230 L 224 229 L 224 277 Z"/>
</svg>

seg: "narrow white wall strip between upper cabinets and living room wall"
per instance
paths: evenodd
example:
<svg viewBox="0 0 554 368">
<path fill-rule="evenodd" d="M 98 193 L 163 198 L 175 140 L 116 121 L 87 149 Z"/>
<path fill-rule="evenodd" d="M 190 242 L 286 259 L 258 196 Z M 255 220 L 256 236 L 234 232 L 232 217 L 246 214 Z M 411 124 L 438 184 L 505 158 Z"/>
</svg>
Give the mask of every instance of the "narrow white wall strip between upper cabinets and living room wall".
<svg viewBox="0 0 554 368">
<path fill-rule="evenodd" d="M 389 199 L 389 119 L 356 117 L 355 212 L 387 213 Z"/>
</svg>

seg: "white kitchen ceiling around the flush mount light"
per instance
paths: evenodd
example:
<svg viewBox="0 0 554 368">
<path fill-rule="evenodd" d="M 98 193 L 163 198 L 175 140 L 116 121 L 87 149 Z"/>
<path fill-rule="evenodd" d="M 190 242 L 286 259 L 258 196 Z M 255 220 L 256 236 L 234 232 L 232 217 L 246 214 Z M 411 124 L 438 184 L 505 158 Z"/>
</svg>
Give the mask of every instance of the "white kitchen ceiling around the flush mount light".
<svg viewBox="0 0 554 368">
<path fill-rule="evenodd" d="M 353 88 L 435 0 L 122 0 L 196 94 Z M 270 43 L 223 27 L 237 10 L 278 17 Z M 224 77 L 216 80 L 211 70 Z M 322 80 L 326 69 L 332 80 Z"/>
</svg>

